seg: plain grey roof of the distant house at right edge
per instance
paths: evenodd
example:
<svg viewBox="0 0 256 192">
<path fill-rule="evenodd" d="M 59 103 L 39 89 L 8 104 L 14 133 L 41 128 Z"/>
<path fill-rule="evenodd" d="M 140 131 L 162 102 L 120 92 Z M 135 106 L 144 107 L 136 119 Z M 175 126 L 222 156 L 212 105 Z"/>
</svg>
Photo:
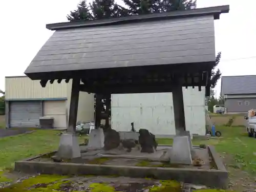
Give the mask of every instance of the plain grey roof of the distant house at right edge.
<svg viewBox="0 0 256 192">
<path fill-rule="evenodd" d="M 223 76 L 221 95 L 256 94 L 256 75 Z"/>
</svg>

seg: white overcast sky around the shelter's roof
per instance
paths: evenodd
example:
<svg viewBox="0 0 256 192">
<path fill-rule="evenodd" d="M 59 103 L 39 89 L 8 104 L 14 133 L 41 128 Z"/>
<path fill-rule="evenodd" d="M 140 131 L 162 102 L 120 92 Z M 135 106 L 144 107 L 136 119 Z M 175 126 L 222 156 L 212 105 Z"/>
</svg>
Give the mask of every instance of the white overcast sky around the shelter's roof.
<svg viewBox="0 0 256 192">
<path fill-rule="evenodd" d="M 118 3 L 121 0 L 117 1 Z M 24 75 L 30 61 L 52 35 L 46 24 L 67 22 L 66 15 L 79 0 L 0 1 L 0 89 L 5 76 Z M 120 3 L 121 4 L 121 3 Z M 255 0 L 198 0 L 198 8 L 230 5 L 230 12 L 215 22 L 216 52 L 224 76 L 256 74 Z M 217 92 L 220 92 L 220 81 Z"/>
</svg>

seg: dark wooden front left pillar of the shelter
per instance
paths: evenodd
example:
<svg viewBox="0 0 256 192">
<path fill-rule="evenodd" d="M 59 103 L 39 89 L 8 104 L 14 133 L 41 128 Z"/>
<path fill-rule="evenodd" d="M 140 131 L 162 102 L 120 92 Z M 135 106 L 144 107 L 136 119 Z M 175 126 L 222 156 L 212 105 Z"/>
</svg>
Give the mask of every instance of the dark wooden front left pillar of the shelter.
<svg viewBox="0 0 256 192">
<path fill-rule="evenodd" d="M 80 88 L 80 79 L 79 78 L 73 79 L 72 89 L 71 89 L 71 98 L 70 98 L 68 133 L 75 133 L 76 131 L 79 88 Z"/>
</svg>

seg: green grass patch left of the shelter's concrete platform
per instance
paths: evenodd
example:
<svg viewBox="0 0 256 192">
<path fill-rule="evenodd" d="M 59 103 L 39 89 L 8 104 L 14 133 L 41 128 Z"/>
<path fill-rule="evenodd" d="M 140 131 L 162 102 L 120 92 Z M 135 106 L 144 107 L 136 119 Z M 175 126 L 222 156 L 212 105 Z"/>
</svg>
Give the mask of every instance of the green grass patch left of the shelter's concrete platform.
<svg viewBox="0 0 256 192">
<path fill-rule="evenodd" d="M 37 130 L 30 134 L 0 138 L 0 167 L 11 168 L 17 160 L 57 150 L 59 133 L 53 130 Z M 80 137 L 80 142 L 84 138 Z"/>
</svg>

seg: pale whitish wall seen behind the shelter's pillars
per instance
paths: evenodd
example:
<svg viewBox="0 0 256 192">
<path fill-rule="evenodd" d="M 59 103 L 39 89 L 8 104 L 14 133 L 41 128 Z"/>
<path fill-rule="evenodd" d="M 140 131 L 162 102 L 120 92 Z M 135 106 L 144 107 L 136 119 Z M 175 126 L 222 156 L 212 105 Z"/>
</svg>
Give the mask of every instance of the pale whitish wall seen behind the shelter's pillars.
<svg viewBox="0 0 256 192">
<path fill-rule="evenodd" d="M 186 129 L 205 135 L 205 89 L 183 88 Z M 148 129 L 155 135 L 175 135 L 172 93 L 112 95 L 111 124 L 117 131 Z"/>
</svg>

